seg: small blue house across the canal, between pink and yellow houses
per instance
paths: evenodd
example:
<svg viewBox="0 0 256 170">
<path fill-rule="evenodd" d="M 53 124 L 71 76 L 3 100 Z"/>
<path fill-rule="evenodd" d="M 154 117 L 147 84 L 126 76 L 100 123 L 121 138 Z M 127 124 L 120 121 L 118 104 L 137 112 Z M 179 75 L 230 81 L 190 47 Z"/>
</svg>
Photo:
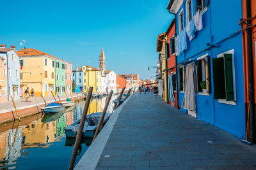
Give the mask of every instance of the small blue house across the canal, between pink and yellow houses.
<svg viewBox="0 0 256 170">
<path fill-rule="evenodd" d="M 76 67 L 72 71 L 72 80 L 75 81 L 76 89 L 75 92 L 83 92 L 83 70 L 82 68 Z"/>
</svg>

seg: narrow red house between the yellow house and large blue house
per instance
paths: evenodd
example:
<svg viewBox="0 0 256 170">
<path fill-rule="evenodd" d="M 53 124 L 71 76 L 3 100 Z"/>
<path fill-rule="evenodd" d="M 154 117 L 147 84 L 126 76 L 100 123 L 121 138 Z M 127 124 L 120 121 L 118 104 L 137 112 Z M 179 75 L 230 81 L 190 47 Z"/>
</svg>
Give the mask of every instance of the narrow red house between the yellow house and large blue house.
<svg viewBox="0 0 256 170">
<path fill-rule="evenodd" d="M 172 89 L 168 89 L 168 103 L 178 107 L 178 94 L 177 94 L 177 74 L 176 74 L 176 55 L 175 55 L 175 20 L 172 20 L 168 29 L 165 32 L 164 37 L 166 38 L 166 49 L 167 49 L 167 69 L 168 69 L 168 87 L 172 83 Z M 172 94 L 173 92 L 173 94 Z"/>
</svg>

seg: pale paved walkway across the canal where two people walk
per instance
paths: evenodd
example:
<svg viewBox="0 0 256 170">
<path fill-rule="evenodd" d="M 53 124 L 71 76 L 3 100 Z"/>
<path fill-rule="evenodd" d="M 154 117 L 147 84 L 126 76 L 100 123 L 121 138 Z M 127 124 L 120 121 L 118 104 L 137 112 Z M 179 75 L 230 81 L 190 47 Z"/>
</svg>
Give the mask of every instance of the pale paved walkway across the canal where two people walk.
<svg viewBox="0 0 256 170">
<path fill-rule="evenodd" d="M 73 97 L 77 96 L 77 94 L 73 93 L 72 96 Z M 55 96 L 55 97 L 56 97 L 56 100 L 59 101 L 58 96 Z M 68 94 L 68 97 L 70 97 L 70 94 Z M 20 99 L 14 100 L 17 108 L 29 106 L 29 105 L 35 105 L 38 103 L 42 103 L 42 104 L 44 103 L 44 100 L 42 99 L 42 97 L 36 97 L 36 99 L 33 102 L 31 102 L 31 97 L 29 97 L 28 102 L 26 102 L 25 98 L 26 97 L 21 97 Z M 44 98 L 47 103 L 54 101 L 54 98 L 52 96 L 45 96 Z M 65 95 L 60 95 L 60 99 L 67 99 L 67 97 Z M 14 109 L 12 100 L 6 101 L 6 102 L 0 102 L 0 113 L 10 109 Z"/>
</svg>

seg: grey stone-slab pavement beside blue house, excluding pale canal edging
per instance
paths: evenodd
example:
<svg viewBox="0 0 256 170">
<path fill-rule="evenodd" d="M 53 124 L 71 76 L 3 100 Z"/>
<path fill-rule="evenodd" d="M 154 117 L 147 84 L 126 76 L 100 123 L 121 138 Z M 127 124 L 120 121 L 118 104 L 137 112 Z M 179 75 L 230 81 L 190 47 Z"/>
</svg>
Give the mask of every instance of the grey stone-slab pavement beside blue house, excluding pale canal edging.
<svg viewBox="0 0 256 170">
<path fill-rule="evenodd" d="M 122 108 L 99 169 L 256 169 L 256 147 L 136 93 Z"/>
</svg>

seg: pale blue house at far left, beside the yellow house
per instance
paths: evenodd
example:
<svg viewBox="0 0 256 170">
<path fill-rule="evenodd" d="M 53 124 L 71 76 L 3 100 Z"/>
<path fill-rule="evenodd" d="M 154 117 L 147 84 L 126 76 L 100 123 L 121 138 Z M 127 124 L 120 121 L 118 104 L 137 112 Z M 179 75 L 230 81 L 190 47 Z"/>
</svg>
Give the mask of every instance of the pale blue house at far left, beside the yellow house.
<svg viewBox="0 0 256 170">
<path fill-rule="evenodd" d="M 15 46 L 6 48 L 5 45 L 0 46 L 0 57 L 3 58 L 6 64 L 7 76 L 7 99 L 20 99 L 20 57 L 15 51 Z M 4 72 L 5 74 L 5 72 Z"/>
</svg>

